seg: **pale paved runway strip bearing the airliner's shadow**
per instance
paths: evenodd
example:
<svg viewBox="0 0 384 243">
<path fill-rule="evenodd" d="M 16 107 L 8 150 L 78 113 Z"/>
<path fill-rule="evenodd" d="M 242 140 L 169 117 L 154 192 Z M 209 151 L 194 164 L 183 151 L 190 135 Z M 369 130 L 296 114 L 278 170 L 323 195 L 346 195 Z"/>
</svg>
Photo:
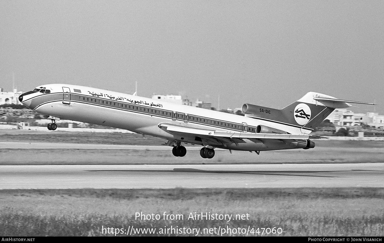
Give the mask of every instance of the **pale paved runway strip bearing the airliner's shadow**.
<svg viewBox="0 0 384 243">
<path fill-rule="evenodd" d="M 176 187 L 384 187 L 384 163 L 0 166 L 0 189 Z"/>
</svg>

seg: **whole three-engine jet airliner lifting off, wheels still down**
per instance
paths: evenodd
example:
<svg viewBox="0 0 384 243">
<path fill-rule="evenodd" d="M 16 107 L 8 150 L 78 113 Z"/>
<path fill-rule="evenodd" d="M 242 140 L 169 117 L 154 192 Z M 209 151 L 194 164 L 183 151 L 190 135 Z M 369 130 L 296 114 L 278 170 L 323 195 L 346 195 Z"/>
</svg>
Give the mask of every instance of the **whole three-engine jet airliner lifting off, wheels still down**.
<svg viewBox="0 0 384 243">
<path fill-rule="evenodd" d="M 213 158 L 214 148 L 260 151 L 293 148 L 309 149 L 315 144 L 310 135 L 335 108 L 349 103 L 373 103 L 339 100 L 309 92 L 298 101 L 278 110 L 244 104 L 245 116 L 203 108 L 177 105 L 151 98 L 78 85 L 47 84 L 19 97 L 26 107 L 48 115 L 49 130 L 56 120 L 67 119 L 126 129 L 164 138 L 174 156 L 184 156 L 181 143 L 199 144 L 202 158 Z"/>
</svg>

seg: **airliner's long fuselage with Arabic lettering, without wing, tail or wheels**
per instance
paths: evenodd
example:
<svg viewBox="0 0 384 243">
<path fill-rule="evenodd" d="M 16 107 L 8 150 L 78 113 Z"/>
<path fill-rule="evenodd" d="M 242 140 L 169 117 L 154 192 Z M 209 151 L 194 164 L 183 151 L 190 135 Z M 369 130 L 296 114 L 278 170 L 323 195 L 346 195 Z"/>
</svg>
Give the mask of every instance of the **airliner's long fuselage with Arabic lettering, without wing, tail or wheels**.
<svg viewBox="0 0 384 243">
<path fill-rule="evenodd" d="M 277 121 L 258 120 L 203 108 L 178 105 L 162 100 L 128 95 L 109 90 L 67 84 L 47 84 L 36 88 L 49 93 L 27 92 L 21 101 L 31 110 L 61 119 L 125 129 L 143 135 L 207 146 L 197 135 L 178 135 L 159 127 L 166 123 L 202 130 L 256 133 L 258 125 L 284 130 L 288 134 L 307 135 L 313 129 Z M 29 93 L 29 94 L 28 94 Z M 263 151 L 304 148 L 307 140 L 252 140 L 217 143 L 210 146 L 230 150 Z"/>
</svg>

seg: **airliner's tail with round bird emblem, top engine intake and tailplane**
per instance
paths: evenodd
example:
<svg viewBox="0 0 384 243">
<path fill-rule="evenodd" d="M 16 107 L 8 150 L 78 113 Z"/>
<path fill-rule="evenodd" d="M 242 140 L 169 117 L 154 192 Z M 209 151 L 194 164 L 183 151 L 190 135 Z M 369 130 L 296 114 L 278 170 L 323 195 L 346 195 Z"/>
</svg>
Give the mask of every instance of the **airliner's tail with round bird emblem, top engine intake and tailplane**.
<svg viewBox="0 0 384 243">
<path fill-rule="evenodd" d="M 265 118 L 313 130 L 335 108 L 351 107 L 349 103 L 376 105 L 374 103 L 339 100 L 329 95 L 308 92 L 298 101 L 281 110 L 250 104 L 244 104 L 242 110 L 247 117 Z"/>
</svg>

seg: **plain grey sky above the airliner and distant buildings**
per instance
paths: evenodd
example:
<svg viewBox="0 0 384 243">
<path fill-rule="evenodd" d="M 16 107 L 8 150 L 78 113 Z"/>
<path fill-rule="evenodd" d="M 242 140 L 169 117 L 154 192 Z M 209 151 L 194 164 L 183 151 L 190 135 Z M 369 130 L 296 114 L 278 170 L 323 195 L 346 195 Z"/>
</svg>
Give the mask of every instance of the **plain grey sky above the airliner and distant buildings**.
<svg viewBox="0 0 384 243">
<path fill-rule="evenodd" d="M 307 92 L 384 115 L 384 1 L 0 2 L 0 87 L 66 83 L 283 108 Z"/>
</svg>

